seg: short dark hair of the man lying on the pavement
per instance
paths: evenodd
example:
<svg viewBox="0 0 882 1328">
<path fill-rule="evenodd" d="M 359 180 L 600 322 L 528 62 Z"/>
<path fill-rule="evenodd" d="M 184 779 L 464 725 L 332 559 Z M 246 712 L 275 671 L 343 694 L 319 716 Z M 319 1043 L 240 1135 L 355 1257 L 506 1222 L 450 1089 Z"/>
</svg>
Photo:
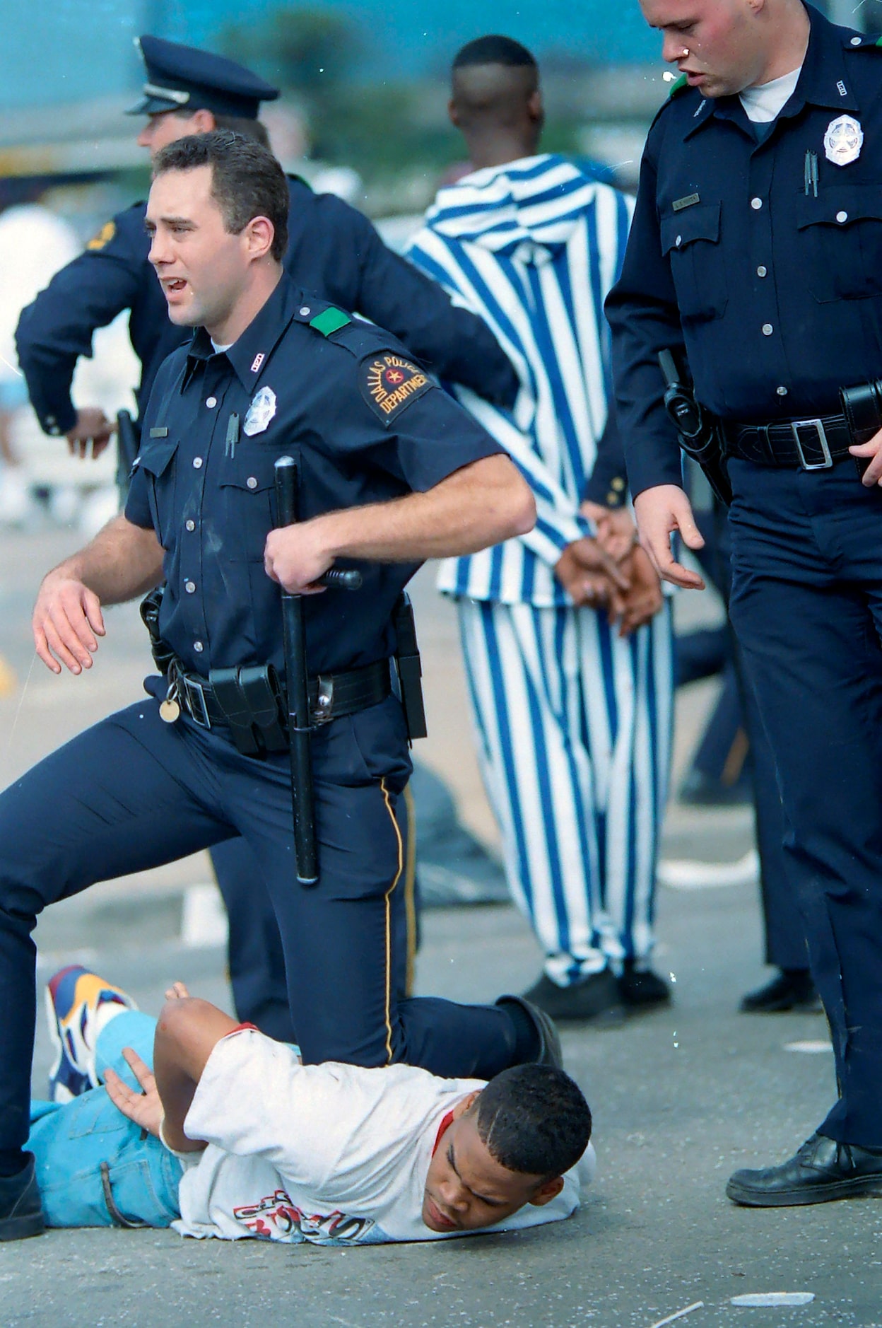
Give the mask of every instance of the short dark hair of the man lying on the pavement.
<svg viewBox="0 0 882 1328">
<path fill-rule="evenodd" d="M 477 1134 L 508 1171 L 562 1175 L 592 1137 L 592 1113 L 569 1074 L 553 1065 L 515 1065 L 475 1102 Z"/>
</svg>

